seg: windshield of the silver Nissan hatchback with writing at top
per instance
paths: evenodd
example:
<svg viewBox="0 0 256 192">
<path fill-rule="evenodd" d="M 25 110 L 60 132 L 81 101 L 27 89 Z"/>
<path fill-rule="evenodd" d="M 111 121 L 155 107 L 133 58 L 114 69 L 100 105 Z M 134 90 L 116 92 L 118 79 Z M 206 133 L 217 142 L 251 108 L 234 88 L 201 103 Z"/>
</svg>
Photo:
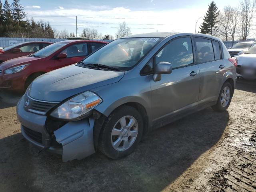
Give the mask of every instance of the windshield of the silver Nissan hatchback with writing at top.
<svg viewBox="0 0 256 192">
<path fill-rule="evenodd" d="M 123 38 L 100 48 L 83 60 L 83 64 L 99 64 L 129 70 L 162 38 Z"/>
</svg>

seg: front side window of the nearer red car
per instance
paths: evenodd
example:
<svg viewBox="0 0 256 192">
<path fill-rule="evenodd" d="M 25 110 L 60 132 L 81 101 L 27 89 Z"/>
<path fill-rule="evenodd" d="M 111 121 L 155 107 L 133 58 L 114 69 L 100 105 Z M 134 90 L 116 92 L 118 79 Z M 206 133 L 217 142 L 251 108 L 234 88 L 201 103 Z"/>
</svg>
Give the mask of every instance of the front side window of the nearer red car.
<svg viewBox="0 0 256 192">
<path fill-rule="evenodd" d="M 66 53 L 67 58 L 87 56 L 88 55 L 87 43 L 70 45 L 68 48 L 63 50 L 62 53 Z"/>
</svg>

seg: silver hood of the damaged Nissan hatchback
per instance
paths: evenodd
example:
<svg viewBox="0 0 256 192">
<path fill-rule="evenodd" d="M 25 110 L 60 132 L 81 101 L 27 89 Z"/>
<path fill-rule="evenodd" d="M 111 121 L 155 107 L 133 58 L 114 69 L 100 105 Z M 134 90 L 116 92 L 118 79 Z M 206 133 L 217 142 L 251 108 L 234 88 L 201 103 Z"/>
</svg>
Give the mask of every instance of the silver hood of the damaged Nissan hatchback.
<svg viewBox="0 0 256 192">
<path fill-rule="evenodd" d="M 71 65 L 36 78 L 28 89 L 28 95 L 37 100 L 61 102 L 75 94 L 118 82 L 123 76 L 124 72 Z"/>
</svg>

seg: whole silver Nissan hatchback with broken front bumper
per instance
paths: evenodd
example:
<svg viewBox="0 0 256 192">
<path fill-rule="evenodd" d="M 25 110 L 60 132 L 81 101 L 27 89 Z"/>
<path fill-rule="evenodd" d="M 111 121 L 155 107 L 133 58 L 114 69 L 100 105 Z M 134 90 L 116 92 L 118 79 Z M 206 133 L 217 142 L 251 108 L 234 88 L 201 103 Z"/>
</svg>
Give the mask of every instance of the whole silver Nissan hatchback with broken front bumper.
<svg viewBox="0 0 256 192">
<path fill-rule="evenodd" d="M 17 116 L 28 141 L 64 162 L 97 149 L 116 159 L 150 130 L 209 106 L 226 110 L 235 84 L 236 60 L 219 38 L 138 34 L 36 78 Z"/>
</svg>

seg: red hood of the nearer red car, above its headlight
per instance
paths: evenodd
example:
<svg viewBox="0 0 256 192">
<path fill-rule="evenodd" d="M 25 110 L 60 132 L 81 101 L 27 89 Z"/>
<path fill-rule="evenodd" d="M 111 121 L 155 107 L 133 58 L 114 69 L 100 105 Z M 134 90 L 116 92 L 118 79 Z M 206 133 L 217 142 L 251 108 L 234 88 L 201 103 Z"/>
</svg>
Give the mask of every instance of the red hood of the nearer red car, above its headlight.
<svg viewBox="0 0 256 192">
<path fill-rule="evenodd" d="M 18 58 L 14 58 L 14 59 L 10 59 L 8 61 L 2 62 L 0 66 L 2 68 L 10 68 L 10 67 L 19 66 L 21 64 L 28 64 L 29 62 L 38 60 L 38 59 L 43 59 L 43 58 L 23 56 L 23 57 L 18 57 Z"/>
</svg>

